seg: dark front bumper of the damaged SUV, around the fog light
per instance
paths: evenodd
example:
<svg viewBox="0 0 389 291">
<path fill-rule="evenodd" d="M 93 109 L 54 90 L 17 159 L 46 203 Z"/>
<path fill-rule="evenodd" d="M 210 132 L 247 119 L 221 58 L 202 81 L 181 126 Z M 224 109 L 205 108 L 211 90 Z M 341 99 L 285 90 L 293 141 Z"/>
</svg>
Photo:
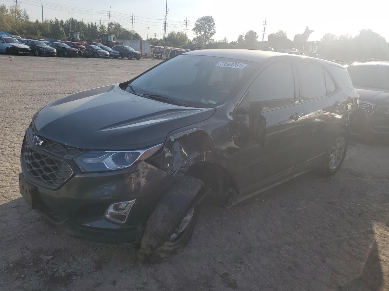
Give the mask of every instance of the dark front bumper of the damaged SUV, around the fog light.
<svg viewBox="0 0 389 291">
<path fill-rule="evenodd" d="M 49 189 L 25 171 L 23 162 L 22 154 L 19 187 L 28 204 L 71 236 L 99 242 L 138 244 L 159 196 L 175 180 L 165 171 L 139 161 L 116 171 L 74 171 L 65 184 Z M 137 201 L 126 223 L 111 222 L 103 217 L 110 204 L 131 199 Z"/>
</svg>

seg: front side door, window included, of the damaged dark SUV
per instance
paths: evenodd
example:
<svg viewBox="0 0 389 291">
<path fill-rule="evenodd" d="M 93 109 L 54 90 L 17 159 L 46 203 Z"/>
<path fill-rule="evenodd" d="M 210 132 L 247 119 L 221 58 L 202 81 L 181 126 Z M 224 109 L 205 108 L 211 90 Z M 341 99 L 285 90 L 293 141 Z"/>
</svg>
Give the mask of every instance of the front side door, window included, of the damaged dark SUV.
<svg viewBox="0 0 389 291">
<path fill-rule="evenodd" d="M 240 106 L 249 106 L 250 140 L 242 147 L 241 197 L 293 175 L 303 135 L 303 107 L 291 61 L 263 69 Z"/>
</svg>

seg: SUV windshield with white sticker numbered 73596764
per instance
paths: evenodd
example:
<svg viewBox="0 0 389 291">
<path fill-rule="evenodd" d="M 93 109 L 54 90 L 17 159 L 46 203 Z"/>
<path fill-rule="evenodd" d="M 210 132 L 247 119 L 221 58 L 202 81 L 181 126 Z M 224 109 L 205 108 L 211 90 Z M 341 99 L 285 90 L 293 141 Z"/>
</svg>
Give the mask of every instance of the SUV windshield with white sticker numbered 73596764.
<svg viewBox="0 0 389 291">
<path fill-rule="evenodd" d="M 159 94 L 195 107 L 224 103 L 254 67 L 253 62 L 177 55 L 131 82 L 126 91 Z"/>
</svg>

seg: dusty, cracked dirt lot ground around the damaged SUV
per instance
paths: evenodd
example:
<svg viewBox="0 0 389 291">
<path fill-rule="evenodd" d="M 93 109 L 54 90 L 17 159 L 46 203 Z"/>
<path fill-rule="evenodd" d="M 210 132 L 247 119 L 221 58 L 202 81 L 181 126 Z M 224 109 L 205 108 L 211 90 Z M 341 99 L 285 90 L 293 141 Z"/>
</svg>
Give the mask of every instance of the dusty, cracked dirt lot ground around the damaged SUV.
<svg viewBox="0 0 389 291">
<path fill-rule="evenodd" d="M 30 210 L 18 173 L 33 113 L 157 62 L 0 55 L 0 290 L 389 290 L 387 142 L 353 138 L 334 177 L 307 173 L 229 209 L 204 207 L 189 246 L 156 265 Z"/>
</svg>

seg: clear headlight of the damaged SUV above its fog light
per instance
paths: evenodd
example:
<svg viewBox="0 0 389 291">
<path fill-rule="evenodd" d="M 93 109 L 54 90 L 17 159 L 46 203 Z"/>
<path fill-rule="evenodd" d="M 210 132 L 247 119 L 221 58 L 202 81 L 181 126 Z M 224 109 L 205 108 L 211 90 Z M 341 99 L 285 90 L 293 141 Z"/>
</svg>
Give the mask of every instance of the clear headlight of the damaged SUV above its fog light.
<svg viewBox="0 0 389 291">
<path fill-rule="evenodd" d="M 118 170 L 151 157 L 161 147 L 162 144 L 137 151 L 87 151 L 74 160 L 83 172 Z"/>
</svg>

